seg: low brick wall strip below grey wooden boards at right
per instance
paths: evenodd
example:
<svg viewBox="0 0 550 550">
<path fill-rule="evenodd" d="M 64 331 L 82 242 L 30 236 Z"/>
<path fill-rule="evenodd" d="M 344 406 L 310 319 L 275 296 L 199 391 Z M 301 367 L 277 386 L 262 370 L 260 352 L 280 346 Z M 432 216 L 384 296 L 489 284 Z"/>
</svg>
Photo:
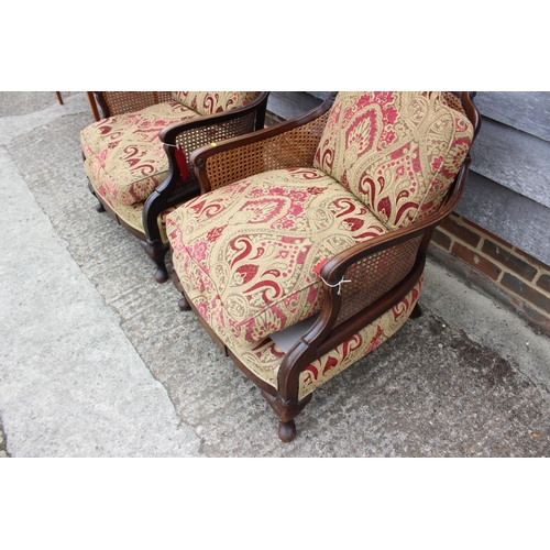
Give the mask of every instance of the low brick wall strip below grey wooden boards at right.
<svg viewBox="0 0 550 550">
<path fill-rule="evenodd" d="M 455 213 L 436 229 L 429 253 L 550 333 L 550 266 Z"/>
</svg>

